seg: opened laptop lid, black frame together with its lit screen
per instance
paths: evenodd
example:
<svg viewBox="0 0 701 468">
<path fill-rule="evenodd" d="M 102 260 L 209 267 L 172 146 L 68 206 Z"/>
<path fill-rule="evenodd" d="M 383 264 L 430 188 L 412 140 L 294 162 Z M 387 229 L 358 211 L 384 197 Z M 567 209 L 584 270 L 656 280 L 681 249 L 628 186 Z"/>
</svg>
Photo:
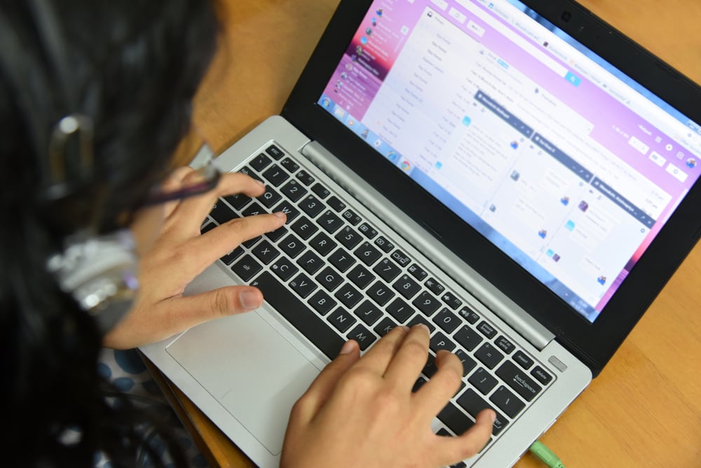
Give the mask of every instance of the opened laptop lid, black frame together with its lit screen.
<svg viewBox="0 0 701 468">
<path fill-rule="evenodd" d="M 594 375 L 701 232 L 701 89 L 573 1 L 341 1 L 283 116 Z"/>
</svg>

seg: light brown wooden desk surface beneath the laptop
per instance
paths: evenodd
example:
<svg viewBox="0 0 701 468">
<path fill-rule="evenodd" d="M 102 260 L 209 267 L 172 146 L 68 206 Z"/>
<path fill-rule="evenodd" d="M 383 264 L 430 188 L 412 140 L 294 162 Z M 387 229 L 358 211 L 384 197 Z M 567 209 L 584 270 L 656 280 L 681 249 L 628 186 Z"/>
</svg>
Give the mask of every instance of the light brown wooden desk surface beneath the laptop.
<svg viewBox="0 0 701 468">
<path fill-rule="evenodd" d="M 223 148 L 278 113 L 338 0 L 224 0 L 223 48 L 195 120 Z M 581 0 L 701 83 L 701 2 Z M 567 467 L 698 467 L 701 462 L 701 246 L 604 372 L 541 440 Z M 222 466 L 253 466 L 182 394 L 178 401 Z M 526 455 L 519 468 L 543 467 Z"/>
</svg>

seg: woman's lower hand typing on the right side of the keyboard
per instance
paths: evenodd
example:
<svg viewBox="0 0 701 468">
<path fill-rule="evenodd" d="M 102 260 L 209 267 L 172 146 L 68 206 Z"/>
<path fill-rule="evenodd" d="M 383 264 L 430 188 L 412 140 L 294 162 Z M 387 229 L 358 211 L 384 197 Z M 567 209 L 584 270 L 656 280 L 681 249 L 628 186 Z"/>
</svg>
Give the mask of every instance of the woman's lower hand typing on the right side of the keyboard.
<svg viewBox="0 0 701 468">
<path fill-rule="evenodd" d="M 348 341 L 292 408 L 280 466 L 442 467 L 475 455 L 489 441 L 494 411 L 479 413 L 460 436 L 433 434 L 463 366 L 438 352 L 438 371 L 412 393 L 428 345 L 425 326 L 393 329 L 362 358 Z"/>
</svg>

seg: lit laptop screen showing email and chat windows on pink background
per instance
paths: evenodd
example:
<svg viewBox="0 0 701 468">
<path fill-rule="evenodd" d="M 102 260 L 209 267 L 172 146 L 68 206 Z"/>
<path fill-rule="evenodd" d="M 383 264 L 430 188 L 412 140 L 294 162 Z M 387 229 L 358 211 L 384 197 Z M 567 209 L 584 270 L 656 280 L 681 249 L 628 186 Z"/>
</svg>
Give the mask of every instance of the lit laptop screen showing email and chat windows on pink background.
<svg viewBox="0 0 701 468">
<path fill-rule="evenodd" d="M 594 322 L 701 128 L 517 0 L 376 0 L 318 104 Z"/>
</svg>

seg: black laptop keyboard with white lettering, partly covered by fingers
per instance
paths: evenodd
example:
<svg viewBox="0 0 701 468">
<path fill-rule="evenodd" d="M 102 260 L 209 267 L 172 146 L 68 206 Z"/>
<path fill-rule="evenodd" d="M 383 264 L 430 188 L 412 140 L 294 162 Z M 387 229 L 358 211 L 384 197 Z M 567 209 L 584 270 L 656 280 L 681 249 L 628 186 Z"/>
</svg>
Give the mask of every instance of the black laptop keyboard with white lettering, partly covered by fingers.
<svg viewBox="0 0 701 468">
<path fill-rule="evenodd" d="M 438 418 L 461 434 L 479 411 L 492 408 L 497 413 L 492 439 L 552 383 L 533 357 L 279 146 L 267 146 L 240 172 L 264 181 L 266 192 L 255 199 L 241 194 L 219 199 L 203 233 L 240 216 L 285 212 L 285 226 L 244 242 L 221 261 L 259 287 L 329 359 L 348 339 L 367 350 L 397 325 L 426 324 L 429 358 L 414 390 L 437 370 L 438 350 L 454 352 L 463 363 L 463 383 Z"/>
</svg>

